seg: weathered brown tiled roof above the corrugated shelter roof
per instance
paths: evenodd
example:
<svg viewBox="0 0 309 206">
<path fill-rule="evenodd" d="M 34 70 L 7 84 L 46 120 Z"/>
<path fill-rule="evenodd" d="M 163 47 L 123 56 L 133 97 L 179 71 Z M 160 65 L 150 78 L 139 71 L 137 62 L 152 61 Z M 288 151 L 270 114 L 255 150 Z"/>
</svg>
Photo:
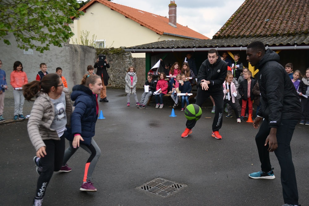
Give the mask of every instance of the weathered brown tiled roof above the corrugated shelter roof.
<svg viewBox="0 0 309 206">
<path fill-rule="evenodd" d="M 246 0 L 213 38 L 308 34 L 309 0 Z"/>
</svg>

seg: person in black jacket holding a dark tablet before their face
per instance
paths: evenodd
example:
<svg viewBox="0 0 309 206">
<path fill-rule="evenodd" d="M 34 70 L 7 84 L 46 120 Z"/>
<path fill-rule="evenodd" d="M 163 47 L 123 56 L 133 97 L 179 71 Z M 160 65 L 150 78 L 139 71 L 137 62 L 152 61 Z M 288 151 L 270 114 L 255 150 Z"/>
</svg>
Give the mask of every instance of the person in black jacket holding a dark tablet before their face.
<svg viewBox="0 0 309 206">
<path fill-rule="evenodd" d="M 99 54 L 99 56 L 103 56 L 103 54 Z M 106 86 L 108 85 L 108 79 L 109 75 L 107 73 L 107 69 L 109 68 L 109 64 L 107 62 L 107 59 L 104 59 L 104 65 L 99 65 L 99 58 L 97 58 L 97 61 L 95 62 L 94 68 L 97 68 L 96 75 L 100 76 L 102 79 L 102 90 L 100 94 L 100 102 L 108 102 L 106 99 Z"/>
</svg>

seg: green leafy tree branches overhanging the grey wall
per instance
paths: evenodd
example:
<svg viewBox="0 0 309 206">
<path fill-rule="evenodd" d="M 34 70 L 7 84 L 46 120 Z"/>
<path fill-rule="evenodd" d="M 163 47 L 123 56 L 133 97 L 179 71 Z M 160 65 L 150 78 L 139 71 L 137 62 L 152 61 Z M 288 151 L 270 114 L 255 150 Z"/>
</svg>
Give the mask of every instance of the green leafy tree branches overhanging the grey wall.
<svg viewBox="0 0 309 206">
<path fill-rule="evenodd" d="M 0 1 L 0 40 L 10 45 L 6 36 L 13 34 L 19 48 L 41 53 L 51 44 L 61 47 L 74 35 L 64 23 L 84 15 L 74 6 L 79 6 L 76 0 Z"/>
</svg>

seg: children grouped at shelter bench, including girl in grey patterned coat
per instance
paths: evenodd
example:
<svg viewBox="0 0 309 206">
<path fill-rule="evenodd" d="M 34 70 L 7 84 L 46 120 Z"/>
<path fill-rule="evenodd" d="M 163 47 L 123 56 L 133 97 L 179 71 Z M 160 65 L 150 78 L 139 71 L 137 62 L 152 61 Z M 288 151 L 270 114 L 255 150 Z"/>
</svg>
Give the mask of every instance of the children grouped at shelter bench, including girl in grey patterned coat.
<svg viewBox="0 0 309 206">
<path fill-rule="evenodd" d="M 161 60 L 161 62 L 163 62 Z M 164 63 L 163 63 L 164 64 Z M 165 69 L 169 68 L 169 64 L 165 65 Z M 179 63 L 175 62 L 171 69 L 169 69 L 169 76 L 166 76 L 166 72 L 159 74 L 158 80 L 153 80 L 152 74 L 148 74 L 147 80 L 144 84 L 144 88 L 148 87 L 142 94 L 141 103 L 138 102 L 136 95 L 137 74 L 133 66 L 130 66 L 125 76 L 125 92 L 127 93 L 127 106 L 130 106 L 130 95 L 134 95 L 134 99 L 138 108 L 145 108 L 148 99 L 158 91 L 155 95 L 155 108 L 163 108 L 163 95 L 171 94 L 171 98 L 174 100 L 173 108 L 176 108 L 179 104 L 179 97 L 181 97 L 181 111 L 184 111 L 185 103 L 189 105 L 189 93 L 192 90 L 190 79 L 195 78 L 195 74 L 192 69 L 189 68 L 187 62 L 184 62 L 180 69 Z M 181 80 L 181 83 L 180 83 Z M 169 89 L 169 92 L 167 90 Z M 183 96 L 178 96 L 178 93 L 183 93 Z"/>
</svg>

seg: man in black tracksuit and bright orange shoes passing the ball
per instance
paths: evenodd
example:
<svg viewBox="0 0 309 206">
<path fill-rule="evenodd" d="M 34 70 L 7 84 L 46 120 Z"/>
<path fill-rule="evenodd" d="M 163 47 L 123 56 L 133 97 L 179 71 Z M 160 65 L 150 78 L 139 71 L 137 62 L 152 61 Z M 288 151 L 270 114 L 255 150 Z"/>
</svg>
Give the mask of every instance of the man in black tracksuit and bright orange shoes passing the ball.
<svg viewBox="0 0 309 206">
<path fill-rule="evenodd" d="M 223 115 L 223 82 L 226 78 L 227 64 L 221 60 L 218 51 L 210 49 L 208 51 L 208 59 L 206 59 L 198 72 L 197 76 L 197 96 L 196 104 L 201 106 L 206 99 L 211 95 L 214 98 L 216 105 L 214 121 L 212 124 L 211 136 L 216 139 L 221 139 L 219 129 L 222 126 Z M 181 137 L 188 137 L 192 133 L 192 128 L 195 126 L 196 120 L 187 120 L 187 128 L 182 133 Z"/>
</svg>

